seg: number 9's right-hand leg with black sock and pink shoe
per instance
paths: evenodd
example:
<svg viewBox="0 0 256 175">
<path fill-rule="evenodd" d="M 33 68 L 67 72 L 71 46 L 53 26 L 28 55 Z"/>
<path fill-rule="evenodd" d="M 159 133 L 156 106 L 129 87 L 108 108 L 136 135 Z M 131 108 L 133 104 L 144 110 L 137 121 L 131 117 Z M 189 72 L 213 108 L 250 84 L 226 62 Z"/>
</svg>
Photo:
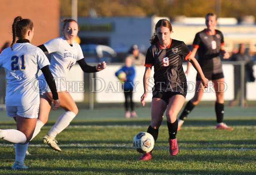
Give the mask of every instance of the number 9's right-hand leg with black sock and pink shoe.
<svg viewBox="0 0 256 175">
<path fill-rule="evenodd" d="M 177 115 L 180 112 L 184 102 L 184 96 L 179 94 L 174 95 L 169 99 L 169 104 L 166 108 L 167 127 L 169 130 L 169 152 L 172 156 L 175 156 L 179 151 L 176 138 L 178 129 Z"/>
</svg>

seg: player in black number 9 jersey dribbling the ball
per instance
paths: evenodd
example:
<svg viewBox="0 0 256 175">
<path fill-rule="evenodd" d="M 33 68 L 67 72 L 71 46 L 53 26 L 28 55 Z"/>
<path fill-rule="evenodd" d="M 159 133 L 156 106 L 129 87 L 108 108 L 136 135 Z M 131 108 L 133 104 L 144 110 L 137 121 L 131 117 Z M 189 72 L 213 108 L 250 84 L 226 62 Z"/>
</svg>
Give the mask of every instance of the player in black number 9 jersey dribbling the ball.
<svg viewBox="0 0 256 175">
<path fill-rule="evenodd" d="M 151 103 L 151 124 L 147 132 L 158 138 L 158 129 L 161 126 L 163 114 L 166 111 L 169 130 L 169 152 L 175 156 L 179 149 L 177 145 L 177 114 L 181 110 L 187 94 L 187 80 L 182 68 L 182 59 L 189 60 L 202 78 L 202 84 L 208 87 L 208 79 L 197 60 L 183 41 L 170 38 L 172 25 L 166 19 L 161 19 L 155 26 L 155 34 L 151 38 L 151 46 L 147 50 L 145 73 L 143 77 L 144 93 L 141 103 L 145 105 L 148 93 L 148 80 L 151 68 L 154 66 L 154 87 Z M 152 152 L 152 151 L 151 151 Z M 144 154 L 139 160 L 151 160 L 151 152 Z"/>
</svg>

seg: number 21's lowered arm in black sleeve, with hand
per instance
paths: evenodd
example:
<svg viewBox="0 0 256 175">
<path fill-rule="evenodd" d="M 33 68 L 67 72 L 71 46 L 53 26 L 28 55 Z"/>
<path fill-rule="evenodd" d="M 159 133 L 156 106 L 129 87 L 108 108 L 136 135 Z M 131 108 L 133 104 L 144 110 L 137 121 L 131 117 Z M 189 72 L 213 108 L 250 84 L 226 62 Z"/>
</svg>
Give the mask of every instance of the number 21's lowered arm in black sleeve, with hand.
<svg viewBox="0 0 256 175">
<path fill-rule="evenodd" d="M 60 101 L 59 101 L 59 97 L 58 97 L 58 93 L 57 93 L 57 88 L 56 88 L 56 83 L 55 80 L 53 78 L 53 74 L 49 69 L 49 65 L 46 65 L 45 67 L 41 68 L 42 73 L 45 76 L 45 80 L 49 86 L 49 88 L 51 89 L 51 92 L 53 94 L 53 104 L 55 105 L 55 107 L 53 108 L 54 110 L 56 110 L 57 108 L 60 107 Z"/>
</svg>

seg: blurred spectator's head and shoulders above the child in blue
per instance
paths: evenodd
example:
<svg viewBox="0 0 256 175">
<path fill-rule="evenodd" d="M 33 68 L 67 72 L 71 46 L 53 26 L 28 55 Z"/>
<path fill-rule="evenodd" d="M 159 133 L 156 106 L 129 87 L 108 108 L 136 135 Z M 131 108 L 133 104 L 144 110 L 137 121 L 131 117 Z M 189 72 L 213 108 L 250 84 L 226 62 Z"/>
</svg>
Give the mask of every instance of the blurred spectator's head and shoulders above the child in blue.
<svg viewBox="0 0 256 175">
<path fill-rule="evenodd" d="M 132 59 L 134 65 L 143 65 L 145 64 L 146 56 L 143 53 L 139 52 L 138 45 L 132 45 L 129 50 L 129 56 Z"/>
</svg>

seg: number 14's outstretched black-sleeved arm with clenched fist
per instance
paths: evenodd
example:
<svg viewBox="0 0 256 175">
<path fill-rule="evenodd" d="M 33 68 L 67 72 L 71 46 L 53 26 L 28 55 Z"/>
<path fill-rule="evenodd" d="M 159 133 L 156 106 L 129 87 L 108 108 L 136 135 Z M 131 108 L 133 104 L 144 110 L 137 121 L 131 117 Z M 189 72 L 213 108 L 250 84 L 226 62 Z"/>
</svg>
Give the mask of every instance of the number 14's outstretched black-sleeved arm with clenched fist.
<svg viewBox="0 0 256 175">
<path fill-rule="evenodd" d="M 105 61 L 103 61 L 102 63 L 98 63 L 97 66 L 90 66 L 86 63 L 85 59 L 83 58 L 81 60 L 78 60 L 77 63 L 79 64 L 83 72 L 86 72 L 86 73 L 94 73 L 94 72 L 102 71 L 103 69 L 106 68 Z"/>
</svg>

